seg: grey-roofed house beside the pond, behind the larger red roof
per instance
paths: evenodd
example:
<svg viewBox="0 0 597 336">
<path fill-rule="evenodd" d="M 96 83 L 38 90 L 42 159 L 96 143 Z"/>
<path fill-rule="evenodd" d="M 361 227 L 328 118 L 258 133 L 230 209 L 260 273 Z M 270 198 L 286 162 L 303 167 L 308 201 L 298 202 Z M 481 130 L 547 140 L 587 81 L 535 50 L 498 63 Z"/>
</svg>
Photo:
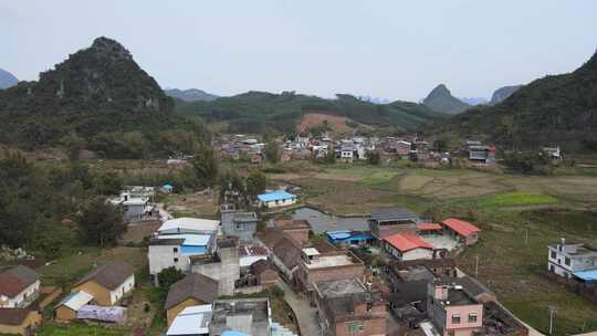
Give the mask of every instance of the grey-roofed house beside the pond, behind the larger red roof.
<svg viewBox="0 0 597 336">
<path fill-rule="evenodd" d="M 396 233 L 416 233 L 419 217 L 406 208 L 374 209 L 368 219 L 371 234 L 380 242 Z"/>
</svg>

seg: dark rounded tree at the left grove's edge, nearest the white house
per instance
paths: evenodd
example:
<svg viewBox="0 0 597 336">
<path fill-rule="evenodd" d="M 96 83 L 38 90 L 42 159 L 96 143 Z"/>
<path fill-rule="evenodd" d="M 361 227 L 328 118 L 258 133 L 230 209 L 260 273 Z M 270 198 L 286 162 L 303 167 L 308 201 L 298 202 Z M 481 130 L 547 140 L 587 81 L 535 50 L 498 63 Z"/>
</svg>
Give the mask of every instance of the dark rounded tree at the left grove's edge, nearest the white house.
<svg viewBox="0 0 597 336">
<path fill-rule="evenodd" d="M 114 245 L 126 232 L 122 209 L 102 197 L 93 198 L 85 204 L 77 221 L 84 240 L 90 244 Z"/>
</svg>

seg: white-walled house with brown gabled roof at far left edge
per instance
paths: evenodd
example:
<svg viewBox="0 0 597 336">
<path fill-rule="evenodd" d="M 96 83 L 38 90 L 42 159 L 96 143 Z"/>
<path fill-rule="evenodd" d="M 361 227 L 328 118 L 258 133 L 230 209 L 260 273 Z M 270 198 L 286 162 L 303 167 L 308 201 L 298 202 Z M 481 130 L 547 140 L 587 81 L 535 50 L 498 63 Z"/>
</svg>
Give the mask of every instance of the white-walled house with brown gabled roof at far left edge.
<svg viewBox="0 0 597 336">
<path fill-rule="evenodd" d="M 18 265 L 0 273 L 0 307 L 25 308 L 40 295 L 40 275 Z"/>
</svg>

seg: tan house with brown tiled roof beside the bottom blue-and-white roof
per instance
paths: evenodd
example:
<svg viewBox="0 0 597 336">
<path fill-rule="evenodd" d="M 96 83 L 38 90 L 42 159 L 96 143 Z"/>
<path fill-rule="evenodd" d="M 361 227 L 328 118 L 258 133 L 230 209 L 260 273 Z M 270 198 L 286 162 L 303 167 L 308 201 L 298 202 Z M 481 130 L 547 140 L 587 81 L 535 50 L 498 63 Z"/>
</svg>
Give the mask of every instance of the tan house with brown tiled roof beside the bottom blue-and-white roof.
<svg viewBox="0 0 597 336">
<path fill-rule="evenodd" d="M 168 326 L 187 307 L 211 304 L 218 297 L 218 282 L 202 274 L 187 274 L 168 290 L 164 304 Z"/>
</svg>

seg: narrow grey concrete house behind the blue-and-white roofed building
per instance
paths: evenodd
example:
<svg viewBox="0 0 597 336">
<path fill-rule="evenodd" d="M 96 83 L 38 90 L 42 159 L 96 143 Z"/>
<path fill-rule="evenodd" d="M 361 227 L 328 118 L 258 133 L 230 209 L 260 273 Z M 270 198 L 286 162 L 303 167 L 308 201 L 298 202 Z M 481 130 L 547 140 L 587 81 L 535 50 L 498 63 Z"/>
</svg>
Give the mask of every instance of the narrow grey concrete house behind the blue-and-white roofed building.
<svg viewBox="0 0 597 336">
<path fill-rule="evenodd" d="M 224 235 L 237 237 L 241 243 L 253 241 L 258 222 L 255 212 L 242 212 L 234 209 L 233 204 L 222 204 L 220 221 Z"/>
</svg>

